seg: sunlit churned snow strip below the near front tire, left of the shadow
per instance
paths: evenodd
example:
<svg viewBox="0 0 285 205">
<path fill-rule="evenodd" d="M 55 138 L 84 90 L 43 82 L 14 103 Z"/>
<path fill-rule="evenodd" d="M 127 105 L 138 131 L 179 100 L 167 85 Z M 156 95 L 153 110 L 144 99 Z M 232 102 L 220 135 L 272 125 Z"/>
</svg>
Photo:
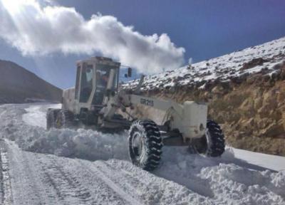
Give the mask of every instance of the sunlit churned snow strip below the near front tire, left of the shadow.
<svg viewBox="0 0 285 205">
<path fill-rule="evenodd" d="M 187 195 L 190 196 L 190 199 L 191 196 L 195 197 L 199 204 L 212 204 L 207 200 L 209 199 L 208 197 L 195 193 L 195 191 L 168 181 L 163 177 L 157 177 L 155 174 L 150 174 L 150 172 L 146 172 L 138 167 L 125 169 L 124 166 L 120 166 L 120 162 L 117 164 L 117 166 L 119 165 L 118 167 L 113 167 L 113 165 L 112 162 L 105 161 L 97 161 L 94 164 L 97 169 L 104 172 L 113 182 L 124 187 L 129 194 L 136 195 L 137 198 L 146 201 L 146 204 L 184 204 L 184 197 Z M 197 204 L 197 201 L 192 201 L 191 204 Z"/>
</svg>

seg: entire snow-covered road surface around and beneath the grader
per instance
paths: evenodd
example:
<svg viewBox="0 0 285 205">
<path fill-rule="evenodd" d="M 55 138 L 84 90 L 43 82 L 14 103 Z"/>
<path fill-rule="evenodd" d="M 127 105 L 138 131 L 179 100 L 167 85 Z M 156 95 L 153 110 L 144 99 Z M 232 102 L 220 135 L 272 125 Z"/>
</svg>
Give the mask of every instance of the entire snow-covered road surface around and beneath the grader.
<svg viewBox="0 0 285 205">
<path fill-rule="evenodd" d="M 284 157 L 165 147 L 145 172 L 128 161 L 124 132 L 46 131 L 55 106 L 0 106 L 0 204 L 285 204 Z"/>
</svg>

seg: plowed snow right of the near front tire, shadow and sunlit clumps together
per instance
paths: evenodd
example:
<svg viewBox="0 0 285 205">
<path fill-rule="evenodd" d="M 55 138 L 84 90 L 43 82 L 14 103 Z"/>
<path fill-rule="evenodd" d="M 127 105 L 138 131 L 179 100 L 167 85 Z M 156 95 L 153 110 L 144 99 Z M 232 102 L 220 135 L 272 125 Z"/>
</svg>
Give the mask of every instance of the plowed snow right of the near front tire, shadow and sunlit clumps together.
<svg viewBox="0 0 285 205">
<path fill-rule="evenodd" d="M 237 159 L 232 148 L 221 158 L 209 158 L 165 147 L 155 174 L 209 197 L 214 204 L 284 204 L 285 172 Z"/>
</svg>

